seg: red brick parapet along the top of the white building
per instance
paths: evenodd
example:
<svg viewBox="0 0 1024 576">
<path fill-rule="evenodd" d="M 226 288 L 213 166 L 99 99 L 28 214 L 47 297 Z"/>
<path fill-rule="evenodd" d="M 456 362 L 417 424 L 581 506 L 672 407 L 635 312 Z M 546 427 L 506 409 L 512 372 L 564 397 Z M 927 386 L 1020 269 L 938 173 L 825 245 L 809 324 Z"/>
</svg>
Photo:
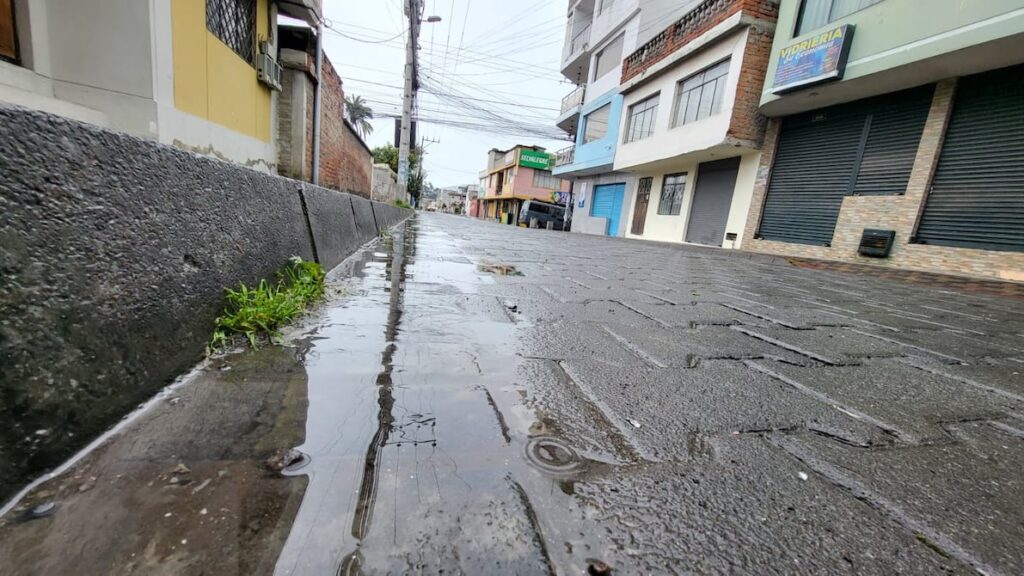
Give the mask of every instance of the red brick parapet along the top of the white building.
<svg viewBox="0 0 1024 576">
<path fill-rule="evenodd" d="M 778 19 L 778 0 L 705 0 L 627 56 L 623 61 L 621 83 L 625 84 L 628 80 L 643 74 L 679 48 L 740 11 L 755 20 L 775 23 Z M 768 44 L 770 49 L 770 38 Z"/>
</svg>

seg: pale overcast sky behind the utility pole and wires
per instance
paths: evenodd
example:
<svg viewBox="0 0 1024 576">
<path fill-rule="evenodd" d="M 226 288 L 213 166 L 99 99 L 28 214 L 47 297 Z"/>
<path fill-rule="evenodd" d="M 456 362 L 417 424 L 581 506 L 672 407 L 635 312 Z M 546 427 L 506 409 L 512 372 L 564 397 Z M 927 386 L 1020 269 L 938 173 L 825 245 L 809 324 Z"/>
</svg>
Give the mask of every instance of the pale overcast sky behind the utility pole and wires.
<svg viewBox="0 0 1024 576">
<path fill-rule="evenodd" d="M 478 183 L 492 148 L 523 143 L 556 152 L 569 146 L 541 132 L 559 133 L 554 126 L 557 109 L 573 88 L 558 72 L 567 0 L 425 1 L 426 15 L 442 18 L 424 23 L 420 34 L 423 87 L 417 137 L 439 140 L 426 145 L 427 181 L 437 187 Z M 393 140 L 394 120 L 385 116 L 401 113 L 408 22 L 402 4 L 324 0 L 333 29 L 326 35 L 326 53 L 346 95 L 361 95 L 378 116 L 371 147 Z M 444 126 L 431 119 L 478 126 Z M 507 133 L 512 126 L 541 133 Z"/>
</svg>

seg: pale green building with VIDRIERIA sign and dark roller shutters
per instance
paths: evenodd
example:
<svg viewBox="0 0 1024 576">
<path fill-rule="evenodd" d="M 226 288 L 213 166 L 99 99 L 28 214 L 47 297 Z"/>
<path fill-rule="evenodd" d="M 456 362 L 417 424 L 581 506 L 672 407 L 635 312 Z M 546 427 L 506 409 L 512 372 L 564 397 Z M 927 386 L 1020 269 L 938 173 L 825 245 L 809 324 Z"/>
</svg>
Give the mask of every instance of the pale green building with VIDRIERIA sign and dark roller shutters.
<svg viewBox="0 0 1024 576">
<path fill-rule="evenodd" d="M 1024 280 L 1024 1 L 783 1 L 743 246 Z"/>
</svg>

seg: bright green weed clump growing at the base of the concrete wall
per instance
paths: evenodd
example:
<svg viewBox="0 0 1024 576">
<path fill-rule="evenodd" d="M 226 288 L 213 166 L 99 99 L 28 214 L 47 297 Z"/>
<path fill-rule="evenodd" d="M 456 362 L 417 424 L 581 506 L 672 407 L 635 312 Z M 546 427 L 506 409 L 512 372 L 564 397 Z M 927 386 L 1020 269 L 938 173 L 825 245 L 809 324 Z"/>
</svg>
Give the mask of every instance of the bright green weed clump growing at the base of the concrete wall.
<svg viewBox="0 0 1024 576">
<path fill-rule="evenodd" d="M 227 288 L 227 305 L 217 319 L 210 348 L 226 345 L 238 334 L 244 335 L 253 347 L 257 347 L 257 337 L 261 334 L 270 339 L 281 336 L 282 326 L 324 296 L 325 276 L 318 263 L 294 256 L 278 271 L 274 283 L 261 280 L 253 288 L 243 283 L 239 283 L 237 290 Z"/>
</svg>

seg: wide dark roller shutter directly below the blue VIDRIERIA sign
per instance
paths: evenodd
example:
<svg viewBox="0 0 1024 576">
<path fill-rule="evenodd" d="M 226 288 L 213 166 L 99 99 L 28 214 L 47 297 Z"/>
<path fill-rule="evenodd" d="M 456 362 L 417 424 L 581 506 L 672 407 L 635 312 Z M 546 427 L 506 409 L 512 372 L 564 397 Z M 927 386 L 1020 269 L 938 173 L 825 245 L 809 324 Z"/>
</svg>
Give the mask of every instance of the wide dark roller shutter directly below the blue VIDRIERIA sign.
<svg viewBox="0 0 1024 576">
<path fill-rule="evenodd" d="M 828 246 L 843 198 L 903 194 L 935 86 L 786 118 L 758 238 Z"/>
</svg>

